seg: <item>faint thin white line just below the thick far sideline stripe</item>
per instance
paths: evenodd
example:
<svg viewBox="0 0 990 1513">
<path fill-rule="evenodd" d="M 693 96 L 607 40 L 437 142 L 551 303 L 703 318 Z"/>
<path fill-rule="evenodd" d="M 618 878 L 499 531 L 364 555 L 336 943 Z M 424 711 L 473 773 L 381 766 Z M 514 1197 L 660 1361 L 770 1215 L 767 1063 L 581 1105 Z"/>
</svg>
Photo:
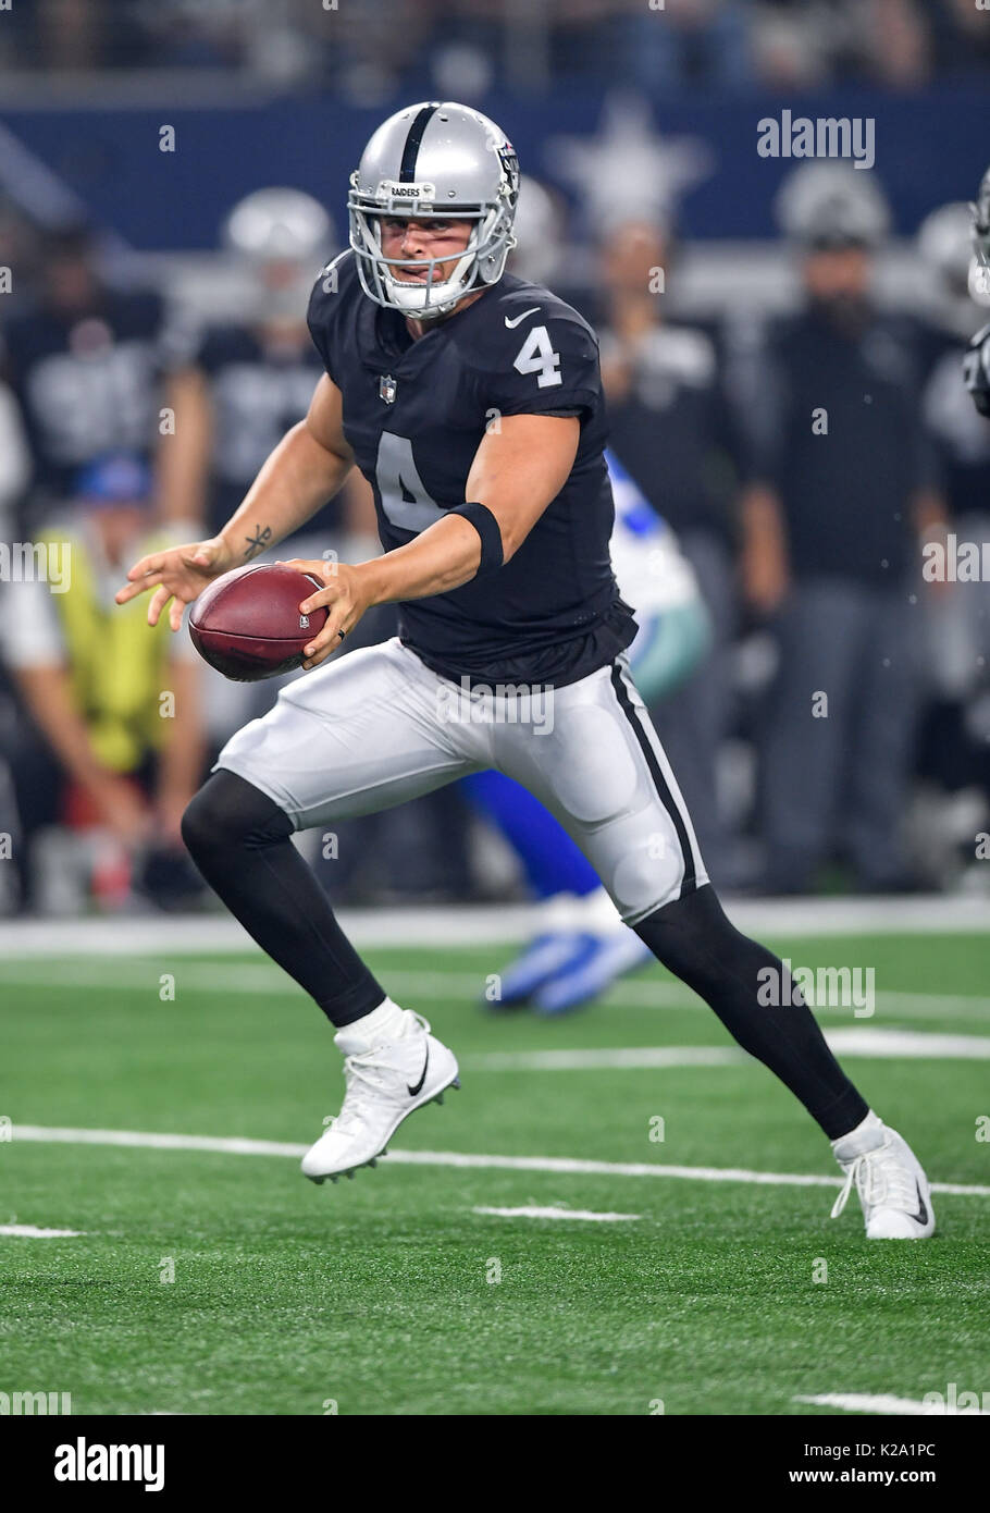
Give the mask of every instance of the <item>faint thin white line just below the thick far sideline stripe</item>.
<svg viewBox="0 0 990 1513">
<path fill-rule="evenodd" d="M 163 950 L 148 959 L 147 967 L 119 967 L 116 962 L 68 962 L 56 959 L 8 959 L 0 962 L 0 982 L 54 986 L 100 986 L 106 991 L 148 993 L 157 999 L 159 974 L 168 967 L 168 956 Z M 175 965 L 175 962 L 172 962 Z M 210 962 L 180 961 L 175 970 L 175 990 L 189 988 L 193 993 L 251 993 L 266 997 L 302 997 L 302 988 L 277 967 L 258 959 L 257 965 L 213 965 Z M 484 977 L 470 976 L 463 971 L 398 971 L 394 991 L 411 993 L 422 997 L 443 999 L 447 1002 L 473 1003 L 481 997 Z M 606 1006 L 615 1005 L 632 1009 L 698 1009 L 710 1014 L 710 1009 L 688 986 L 677 982 L 644 982 L 623 980 L 615 983 L 602 1000 Z M 878 1008 L 907 1018 L 964 1018 L 985 1023 L 990 1017 L 990 999 L 975 994 L 928 994 L 928 993 L 877 993 Z M 819 1014 L 849 1015 L 851 1008 L 831 1009 L 827 1005 L 818 1008 Z"/>
</svg>

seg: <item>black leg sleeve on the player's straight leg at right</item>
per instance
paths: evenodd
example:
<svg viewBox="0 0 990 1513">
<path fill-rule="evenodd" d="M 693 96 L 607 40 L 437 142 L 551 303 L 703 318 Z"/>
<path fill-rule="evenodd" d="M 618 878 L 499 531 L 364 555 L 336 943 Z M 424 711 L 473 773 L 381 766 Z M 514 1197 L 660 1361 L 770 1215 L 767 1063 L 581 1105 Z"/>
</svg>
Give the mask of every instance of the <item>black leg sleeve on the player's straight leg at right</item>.
<svg viewBox="0 0 990 1513">
<path fill-rule="evenodd" d="M 729 921 L 710 884 L 667 903 L 633 926 L 657 961 L 715 1009 L 744 1050 L 769 1067 L 818 1120 L 828 1139 L 839 1139 L 866 1118 L 869 1108 L 828 1050 L 809 1006 L 759 1002 L 759 973 L 772 968 L 784 982 L 778 956 L 748 940 Z"/>
</svg>

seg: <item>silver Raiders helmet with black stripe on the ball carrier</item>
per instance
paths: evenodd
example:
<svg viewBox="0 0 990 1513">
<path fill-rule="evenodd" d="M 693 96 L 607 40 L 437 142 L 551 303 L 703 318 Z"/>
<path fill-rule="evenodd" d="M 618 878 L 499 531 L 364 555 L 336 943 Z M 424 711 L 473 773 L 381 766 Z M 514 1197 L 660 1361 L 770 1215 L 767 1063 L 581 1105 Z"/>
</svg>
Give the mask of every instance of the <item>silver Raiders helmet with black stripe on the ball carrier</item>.
<svg viewBox="0 0 990 1513">
<path fill-rule="evenodd" d="M 518 159 L 512 144 L 481 110 L 453 101 L 408 106 L 388 117 L 351 174 L 351 247 L 361 287 L 376 304 L 420 321 L 447 315 L 466 294 L 499 281 L 515 245 Z M 381 218 L 473 221 L 470 241 L 447 278 L 444 259 L 385 257 Z M 396 277 L 426 269 L 426 281 Z"/>
</svg>

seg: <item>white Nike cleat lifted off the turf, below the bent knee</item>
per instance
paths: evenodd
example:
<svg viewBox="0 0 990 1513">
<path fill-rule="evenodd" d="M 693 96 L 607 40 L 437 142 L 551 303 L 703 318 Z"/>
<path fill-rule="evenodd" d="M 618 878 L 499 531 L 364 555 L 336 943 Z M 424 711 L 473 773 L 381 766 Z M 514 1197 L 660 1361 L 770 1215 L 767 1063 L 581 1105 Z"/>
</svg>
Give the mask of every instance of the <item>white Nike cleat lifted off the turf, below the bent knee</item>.
<svg viewBox="0 0 990 1513">
<path fill-rule="evenodd" d="M 302 1157 L 311 1182 L 336 1182 L 352 1177 L 358 1167 L 373 1167 L 402 1120 L 425 1103 L 443 1103 L 444 1089 L 461 1085 L 453 1052 L 411 1009 L 398 1011 L 388 1038 L 378 1035 L 369 1042 L 360 1024 L 334 1035 L 345 1053 L 348 1091 L 337 1118 Z"/>
</svg>

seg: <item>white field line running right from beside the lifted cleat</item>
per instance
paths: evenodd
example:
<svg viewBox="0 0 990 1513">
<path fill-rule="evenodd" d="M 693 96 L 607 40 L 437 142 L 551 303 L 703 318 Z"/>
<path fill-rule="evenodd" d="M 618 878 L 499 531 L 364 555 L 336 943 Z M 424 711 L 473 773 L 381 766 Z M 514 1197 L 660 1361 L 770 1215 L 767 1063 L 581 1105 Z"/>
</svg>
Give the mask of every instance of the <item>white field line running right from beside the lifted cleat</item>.
<svg viewBox="0 0 990 1513">
<path fill-rule="evenodd" d="M 990 1061 L 990 1035 L 927 1035 L 923 1030 L 825 1030 L 836 1055 L 923 1061 Z M 466 1071 L 639 1071 L 662 1067 L 739 1067 L 745 1052 L 721 1045 L 639 1045 L 599 1050 L 485 1052 L 464 1056 Z"/>
</svg>

